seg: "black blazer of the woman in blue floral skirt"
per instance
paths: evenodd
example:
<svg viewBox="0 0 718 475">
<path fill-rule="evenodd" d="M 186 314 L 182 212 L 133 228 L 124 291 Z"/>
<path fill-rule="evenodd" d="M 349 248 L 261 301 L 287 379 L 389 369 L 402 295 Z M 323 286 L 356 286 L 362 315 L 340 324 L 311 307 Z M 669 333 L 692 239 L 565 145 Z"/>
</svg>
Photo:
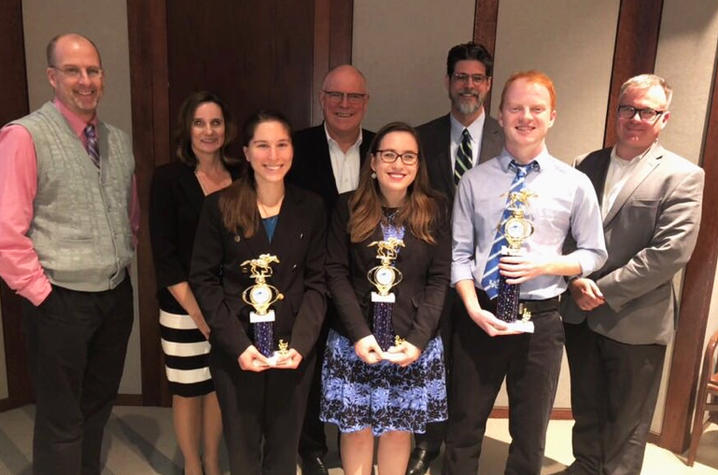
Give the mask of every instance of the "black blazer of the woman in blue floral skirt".
<svg viewBox="0 0 718 475">
<path fill-rule="evenodd" d="M 351 243 L 347 232 L 348 200 L 352 193 L 339 196 L 327 236 L 327 284 L 338 319 L 332 327 L 352 342 L 371 334 L 373 304 L 371 292 L 375 287 L 367 280 L 367 272 L 379 264 L 376 247 L 367 245 L 383 239 L 377 228 L 369 239 Z M 394 266 L 404 279 L 392 289 L 396 302 L 392 309 L 394 331 L 407 341 L 423 349 L 437 333 L 444 297 L 449 286 L 451 268 L 451 227 L 448 213 L 437 223 L 435 245 L 427 244 L 410 232 L 404 234 L 404 244 Z"/>
</svg>

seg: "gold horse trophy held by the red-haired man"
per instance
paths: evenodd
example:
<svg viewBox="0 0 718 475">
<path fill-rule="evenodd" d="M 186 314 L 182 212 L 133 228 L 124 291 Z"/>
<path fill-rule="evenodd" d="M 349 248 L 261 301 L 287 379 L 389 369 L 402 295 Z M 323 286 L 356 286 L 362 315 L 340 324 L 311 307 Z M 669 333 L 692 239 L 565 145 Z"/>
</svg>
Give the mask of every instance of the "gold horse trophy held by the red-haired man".
<svg viewBox="0 0 718 475">
<path fill-rule="evenodd" d="M 533 196 L 536 194 L 525 189 L 509 194 L 507 209 L 511 211 L 511 216 L 502 224 L 508 246 L 501 248 L 502 256 L 522 256 L 526 253 L 521 246 L 534 233 L 534 226 L 531 221 L 526 219 L 524 207 L 528 205 L 529 198 Z M 522 308 L 519 303 L 519 287 L 518 284 L 506 284 L 501 278 L 496 302 L 496 317 L 506 322 L 509 330 L 533 333 L 534 324 L 530 321 L 531 312 L 527 308 Z M 521 318 L 519 319 L 517 316 Z"/>
</svg>

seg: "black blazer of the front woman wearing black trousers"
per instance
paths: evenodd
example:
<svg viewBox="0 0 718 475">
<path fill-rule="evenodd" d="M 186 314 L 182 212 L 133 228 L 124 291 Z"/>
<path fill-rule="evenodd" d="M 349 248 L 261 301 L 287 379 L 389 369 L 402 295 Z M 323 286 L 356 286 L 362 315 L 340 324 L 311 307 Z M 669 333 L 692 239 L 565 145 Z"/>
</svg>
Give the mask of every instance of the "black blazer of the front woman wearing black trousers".
<svg viewBox="0 0 718 475">
<path fill-rule="evenodd" d="M 190 284 L 212 332 L 212 352 L 221 351 L 236 360 L 252 342 L 251 306 L 242 292 L 254 285 L 240 264 L 260 254 L 279 258 L 268 282 L 284 300 L 275 302 L 275 339 L 289 342 L 306 357 L 314 347 L 324 321 L 324 242 L 326 212 L 318 196 L 287 185 L 279 221 L 270 243 L 260 224 L 254 236 L 227 230 L 219 211 L 225 190 L 207 197 L 195 239 Z"/>
</svg>

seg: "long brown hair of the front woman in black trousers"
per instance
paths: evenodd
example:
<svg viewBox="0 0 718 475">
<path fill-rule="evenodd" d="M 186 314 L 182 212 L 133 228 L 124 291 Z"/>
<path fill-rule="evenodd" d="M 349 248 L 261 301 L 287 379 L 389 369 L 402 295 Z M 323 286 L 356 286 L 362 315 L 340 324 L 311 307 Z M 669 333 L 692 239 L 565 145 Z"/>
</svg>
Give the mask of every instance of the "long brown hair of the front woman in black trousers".
<svg viewBox="0 0 718 475">
<path fill-rule="evenodd" d="M 249 116 L 242 127 L 242 143 L 246 147 L 254 138 L 259 124 L 263 122 L 279 122 L 292 136 L 292 127 L 289 121 L 279 112 L 260 110 Z M 257 183 L 254 180 L 254 170 L 248 161 L 244 160 L 239 179 L 225 188 L 219 197 L 219 210 L 225 227 L 245 238 L 251 238 L 259 227 L 261 217 L 257 210 Z"/>
</svg>

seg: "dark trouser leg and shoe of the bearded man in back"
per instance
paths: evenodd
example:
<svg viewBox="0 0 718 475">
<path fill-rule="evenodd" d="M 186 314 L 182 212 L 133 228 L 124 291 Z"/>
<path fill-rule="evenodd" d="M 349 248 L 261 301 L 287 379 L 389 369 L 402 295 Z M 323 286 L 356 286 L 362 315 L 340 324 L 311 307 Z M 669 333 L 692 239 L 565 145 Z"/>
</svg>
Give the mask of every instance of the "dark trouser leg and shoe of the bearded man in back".
<svg viewBox="0 0 718 475">
<path fill-rule="evenodd" d="M 461 301 L 461 298 L 459 298 L 456 293 L 456 290 L 454 288 L 450 288 L 446 293 L 444 309 L 439 323 L 441 341 L 444 344 L 446 393 L 449 400 L 451 400 L 451 390 L 453 388 L 453 385 L 451 384 L 451 372 L 453 368 L 451 349 L 453 321 L 458 318 L 468 318 L 466 315 L 466 308 L 464 307 L 464 303 Z M 439 450 L 441 450 L 441 444 L 444 442 L 444 438 L 446 437 L 447 426 L 448 421 L 432 422 L 427 424 L 426 432 L 424 434 L 414 434 L 414 445 L 428 452 L 439 453 Z"/>
</svg>

